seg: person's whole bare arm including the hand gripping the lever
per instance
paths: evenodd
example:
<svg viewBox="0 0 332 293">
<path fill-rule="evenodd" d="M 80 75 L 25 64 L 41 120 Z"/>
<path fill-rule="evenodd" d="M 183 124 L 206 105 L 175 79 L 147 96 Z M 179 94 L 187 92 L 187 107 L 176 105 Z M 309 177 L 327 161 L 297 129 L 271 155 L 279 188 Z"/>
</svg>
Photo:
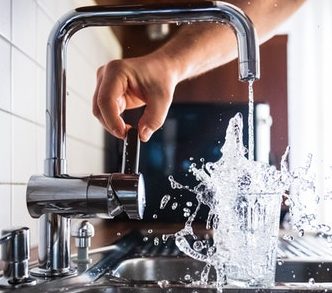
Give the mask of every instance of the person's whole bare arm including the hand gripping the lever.
<svg viewBox="0 0 332 293">
<path fill-rule="evenodd" d="M 253 21 L 260 42 L 273 35 L 304 0 L 234 0 Z M 165 121 L 177 83 L 197 76 L 237 56 L 234 33 L 226 26 L 197 23 L 183 27 L 168 43 L 146 56 L 111 61 L 98 70 L 94 115 L 119 138 L 126 125 L 125 109 L 146 105 L 139 121 L 143 141 Z"/>
</svg>

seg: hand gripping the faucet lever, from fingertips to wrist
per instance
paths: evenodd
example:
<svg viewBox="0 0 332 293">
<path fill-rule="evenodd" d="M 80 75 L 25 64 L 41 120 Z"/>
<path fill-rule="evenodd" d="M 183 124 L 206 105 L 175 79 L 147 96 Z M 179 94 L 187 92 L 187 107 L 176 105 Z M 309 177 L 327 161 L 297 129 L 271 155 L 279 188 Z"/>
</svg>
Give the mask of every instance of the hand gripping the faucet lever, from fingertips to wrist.
<svg viewBox="0 0 332 293">
<path fill-rule="evenodd" d="M 165 60 L 150 54 L 111 61 L 98 69 L 93 114 L 112 135 L 123 139 L 130 125 L 121 113 L 143 105 L 140 139 L 148 141 L 163 125 L 177 83 L 175 71 Z"/>
</svg>

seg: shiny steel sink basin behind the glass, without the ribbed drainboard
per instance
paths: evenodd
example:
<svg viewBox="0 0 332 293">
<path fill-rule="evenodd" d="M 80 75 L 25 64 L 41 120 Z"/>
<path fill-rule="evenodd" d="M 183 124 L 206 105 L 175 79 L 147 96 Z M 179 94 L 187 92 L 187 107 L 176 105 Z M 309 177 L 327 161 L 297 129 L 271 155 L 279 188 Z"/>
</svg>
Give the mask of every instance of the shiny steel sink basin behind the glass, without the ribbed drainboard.
<svg viewBox="0 0 332 293">
<path fill-rule="evenodd" d="M 113 271 L 119 278 L 133 281 L 168 280 L 171 284 L 188 284 L 199 281 L 205 264 L 188 257 L 147 257 L 132 258 L 122 261 Z M 171 269 L 169 269 L 171 268 Z M 312 278 L 315 283 L 332 282 L 331 262 L 296 262 L 285 261 L 277 264 L 276 283 L 308 283 Z M 216 280 L 211 268 L 209 281 Z M 332 285 L 332 283 L 331 283 Z"/>
</svg>

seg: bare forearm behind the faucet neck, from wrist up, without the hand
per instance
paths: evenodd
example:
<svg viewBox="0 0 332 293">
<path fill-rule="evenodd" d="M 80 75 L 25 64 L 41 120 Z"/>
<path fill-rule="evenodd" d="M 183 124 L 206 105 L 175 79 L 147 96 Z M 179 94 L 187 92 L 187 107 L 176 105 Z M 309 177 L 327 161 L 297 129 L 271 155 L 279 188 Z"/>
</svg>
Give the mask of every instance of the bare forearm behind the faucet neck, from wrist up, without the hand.
<svg viewBox="0 0 332 293">
<path fill-rule="evenodd" d="M 234 0 L 252 20 L 259 42 L 269 39 L 276 27 L 304 0 Z M 234 32 L 225 25 L 194 23 L 184 26 L 168 43 L 152 54 L 173 68 L 179 81 L 199 75 L 237 57 Z"/>
</svg>

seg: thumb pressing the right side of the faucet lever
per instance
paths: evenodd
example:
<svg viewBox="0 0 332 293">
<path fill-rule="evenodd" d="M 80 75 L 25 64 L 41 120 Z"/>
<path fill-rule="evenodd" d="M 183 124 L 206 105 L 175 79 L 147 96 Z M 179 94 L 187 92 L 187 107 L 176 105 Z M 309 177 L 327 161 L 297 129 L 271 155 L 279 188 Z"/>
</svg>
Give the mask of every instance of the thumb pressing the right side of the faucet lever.
<svg viewBox="0 0 332 293">
<path fill-rule="evenodd" d="M 149 99 L 138 123 L 139 136 L 142 141 L 147 142 L 151 135 L 164 124 L 170 104 L 169 96 Z"/>
</svg>

